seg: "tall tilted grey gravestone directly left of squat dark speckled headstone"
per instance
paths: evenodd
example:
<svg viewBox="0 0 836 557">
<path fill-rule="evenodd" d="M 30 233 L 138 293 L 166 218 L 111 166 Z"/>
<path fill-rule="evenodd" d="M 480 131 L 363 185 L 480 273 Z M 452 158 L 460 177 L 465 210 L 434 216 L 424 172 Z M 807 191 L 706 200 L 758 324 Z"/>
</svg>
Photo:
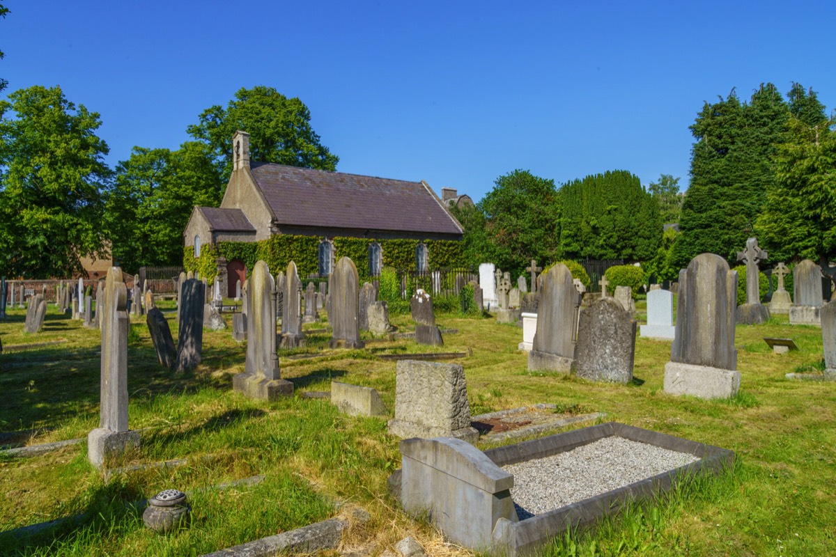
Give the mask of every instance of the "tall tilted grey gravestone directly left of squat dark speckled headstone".
<svg viewBox="0 0 836 557">
<path fill-rule="evenodd" d="M 543 276 L 539 295 L 537 332 L 531 352 L 528 352 L 528 370 L 571 372 L 580 295 L 568 267 L 563 263 L 555 264 Z"/>
</svg>

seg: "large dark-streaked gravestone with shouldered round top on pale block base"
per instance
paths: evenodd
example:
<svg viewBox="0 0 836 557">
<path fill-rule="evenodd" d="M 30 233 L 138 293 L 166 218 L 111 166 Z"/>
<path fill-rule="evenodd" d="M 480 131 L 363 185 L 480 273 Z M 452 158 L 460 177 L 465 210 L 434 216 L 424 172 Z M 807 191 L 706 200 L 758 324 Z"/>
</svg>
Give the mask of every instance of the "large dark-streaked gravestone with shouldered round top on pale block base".
<svg viewBox="0 0 836 557">
<path fill-rule="evenodd" d="M 696 256 L 680 271 L 676 333 L 665 364 L 665 392 L 733 397 L 740 387 L 734 347 L 737 271 L 720 256 Z"/>
</svg>

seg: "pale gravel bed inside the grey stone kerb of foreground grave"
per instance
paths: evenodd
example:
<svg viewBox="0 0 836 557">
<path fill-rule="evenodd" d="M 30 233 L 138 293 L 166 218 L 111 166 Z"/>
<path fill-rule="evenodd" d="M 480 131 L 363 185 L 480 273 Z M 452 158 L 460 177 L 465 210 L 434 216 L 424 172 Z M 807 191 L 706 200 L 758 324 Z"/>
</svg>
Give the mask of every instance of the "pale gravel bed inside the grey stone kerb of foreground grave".
<svg viewBox="0 0 836 557">
<path fill-rule="evenodd" d="M 688 453 L 607 437 L 565 453 L 502 468 L 514 475 L 511 495 L 523 520 L 697 460 Z"/>
</svg>

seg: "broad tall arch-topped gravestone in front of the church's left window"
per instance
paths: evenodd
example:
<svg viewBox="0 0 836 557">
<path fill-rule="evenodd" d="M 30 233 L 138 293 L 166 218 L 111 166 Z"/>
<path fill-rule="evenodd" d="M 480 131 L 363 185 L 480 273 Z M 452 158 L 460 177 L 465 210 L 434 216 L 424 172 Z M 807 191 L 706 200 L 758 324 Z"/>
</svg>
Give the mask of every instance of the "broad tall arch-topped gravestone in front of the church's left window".
<svg viewBox="0 0 836 557">
<path fill-rule="evenodd" d="M 362 348 L 359 323 L 359 275 L 354 261 L 340 257 L 331 273 L 328 320 L 333 333 L 329 347 Z"/>
</svg>

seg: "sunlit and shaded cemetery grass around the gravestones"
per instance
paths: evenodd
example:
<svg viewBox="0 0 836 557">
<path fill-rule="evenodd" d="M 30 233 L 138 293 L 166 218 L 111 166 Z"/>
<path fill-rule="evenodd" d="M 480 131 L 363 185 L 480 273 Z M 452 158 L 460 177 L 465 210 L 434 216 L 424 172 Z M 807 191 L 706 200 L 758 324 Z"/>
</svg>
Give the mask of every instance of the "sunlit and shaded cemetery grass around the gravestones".
<svg viewBox="0 0 836 557">
<path fill-rule="evenodd" d="M 643 302 L 639 306 L 641 314 Z M 3 347 L 65 342 L 0 357 L 0 444 L 86 438 L 99 422 L 98 330 L 84 329 L 51 306 L 43 332 L 26 335 L 23 316 L 14 310 L 0 322 Z M 173 315 L 166 316 L 176 337 Z M 402 332 L 412 329 L 408 316 L 392 320 Z M 394 414 L 395 362 L 380 361 L 375 353 L 471 349 L 472 356 L 452 362 L 465 368 L 474 415 L 554 403 L 560 413 L 604 412 L 604 421 L 737 453 L 733 468 L 718 478 L 632 506 L 595 534 L 563 533 L 546 554 L 836 554 L 836 385 L 783 377 L 821 369 L 817 327 L 791 327 L 786 316 L 737 327 L 742 392 L 731 401 L 707 402 L 663 392 L 670 342 L 637 338 L 634 382 L 615 386 L 526 371 L 526 356 L 517 351 L 519 327 L 452 314 L 437 316 L 437 322 L 459 330 L 445 336 L 444 347 L 399 340 L 329 351 L 329 334 L 313 334 L 307 347 L 279 354 L 294 396 L 262 403 L 232 392 L 232 375 L 243 370 L 244 345 L 232 341 L 228 329 L 204 332 L 203 363 L 176 374 L 157 365 L 145 318 L 132 317 L 130 427 L 141 429 L 142 445 L 119 465 L 185 463 L 105 479 L 87 462 L 86 440 L 40 456 L 0 457 L 0 553 L 202 554 L 335 516 L 339 501 L 371 515 L 344 536 L 347 547 L 363 546 L 375 555 L 413 535 L 429 554 L 469 554 L 445 544 L 426 522 L 405 516 L 386 492 L 386 478 L 400 467 L 398 439 L 386 433 Z M 763 337 L 792 337 L 799 350 L 776 356 Z M 298 354 L 321 357 L 291 359 Z M 301 396 L 328 391 L 333 379 L 375 387 L 389 416 L 351 418 L 326 400 Z M 257 475 L 263 476 L 260 484 L 212 489 Z M 191 528 L 152 534 L 141 522 L 140 502 L 170 487 L 190 492 Z M 68 517 L 36 534 L 22 530 Z"/>
</svg>

